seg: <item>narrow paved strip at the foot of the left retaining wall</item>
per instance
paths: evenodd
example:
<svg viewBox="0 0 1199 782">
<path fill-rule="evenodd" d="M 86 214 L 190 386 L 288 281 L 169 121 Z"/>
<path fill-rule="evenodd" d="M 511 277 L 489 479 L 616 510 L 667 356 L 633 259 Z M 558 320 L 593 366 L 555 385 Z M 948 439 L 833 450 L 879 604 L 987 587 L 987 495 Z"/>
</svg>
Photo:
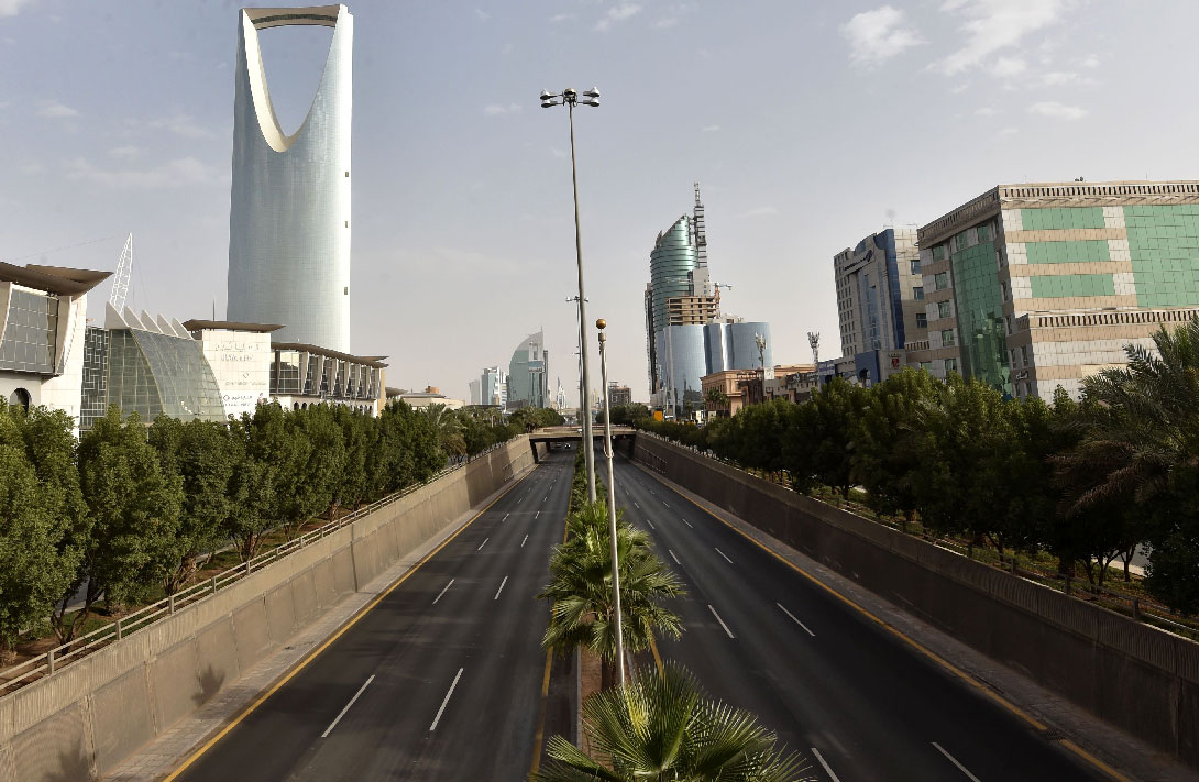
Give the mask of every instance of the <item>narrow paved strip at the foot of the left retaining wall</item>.
<svg viewBox="0 0 1199 782">
<path fill-rule="evenodd" d="M 103 777 L 108 782 L 159 782 L 180 766 L 204 742 L 211 741 L 231 720 L 243 712 L 260 693 L 291 672 L 308 655 L 335 636 L 342 627 L 369 606 L 388 586 L 402 578 L 429 552 L 457 534 L 468 523 L 482 515 L 502 493 L 537 469 L 534 464 L 501 488 L 492 493 L 478 506 L 471 509 L 450 524 L 440 534 L 426 541 L 416 551 L 403 557 L 360 591 L 337 603 L 308 628 L 293 637 L 285 646 L 251 668 L 217 693 L 210 702 L 163 730 L 153 741 L 125 759 L 121 765 Z"/>
</svg>

